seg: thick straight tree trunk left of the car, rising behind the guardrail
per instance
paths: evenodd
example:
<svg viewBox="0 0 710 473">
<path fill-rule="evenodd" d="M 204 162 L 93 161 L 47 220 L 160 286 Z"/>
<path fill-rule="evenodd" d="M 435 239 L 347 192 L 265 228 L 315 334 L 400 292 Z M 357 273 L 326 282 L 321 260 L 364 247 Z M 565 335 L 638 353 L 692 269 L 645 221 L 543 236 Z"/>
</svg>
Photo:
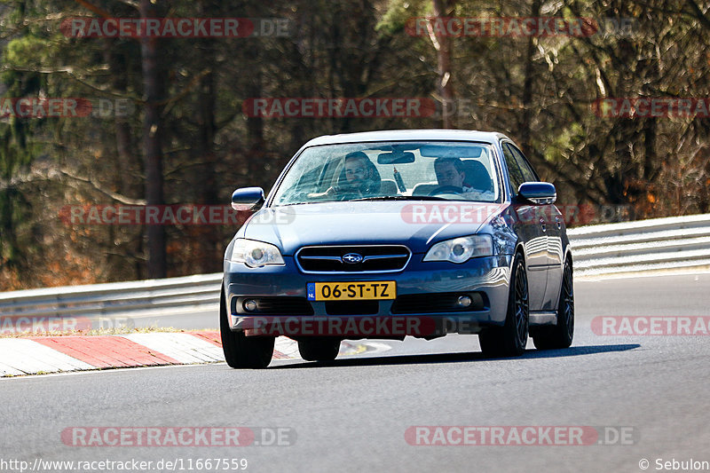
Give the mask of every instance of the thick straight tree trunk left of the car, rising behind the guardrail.
<svg viewBox="0 0 710 473">
<path fill-rule="evenodd" d="M 158 18 L 151 0 L 140 1 L 140 17 Z M 162 147 L 161 104 L 162 88 L 158 70 L 158 39 L 143 37 L 140 51 L 143 69 L 143 96 L 146 99 L 146 116 L 143 123 L 143 147 L 146 158 L 147 205 L 162 205 Z M 168 272 L 165 254 L 165 228 L 162 225 L 146 225 L 148 249 L 148 277 L 164 278 Z"/>
</svg>

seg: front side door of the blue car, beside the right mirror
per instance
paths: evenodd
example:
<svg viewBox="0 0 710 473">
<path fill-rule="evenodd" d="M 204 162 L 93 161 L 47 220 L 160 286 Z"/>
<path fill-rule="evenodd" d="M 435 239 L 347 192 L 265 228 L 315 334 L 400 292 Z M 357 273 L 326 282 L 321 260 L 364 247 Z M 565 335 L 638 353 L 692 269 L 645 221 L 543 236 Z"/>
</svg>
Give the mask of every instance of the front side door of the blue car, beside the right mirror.
<svg viewBox="0 0 710 473">
<path fill-rule="evenodd" d="M 517 213 L 516 232 L 525 246 L 525 272 L 527 272 L 530 310 L 542 310 L 548 284 L 548 240 L 546 228 L 540 225 L 538 207 L 517 201 L 517 188 L 526 180 L 517 163 L 510 143 L 501 143 L 503 158 L 508 168 L 510 192 Z"/>
</svg>

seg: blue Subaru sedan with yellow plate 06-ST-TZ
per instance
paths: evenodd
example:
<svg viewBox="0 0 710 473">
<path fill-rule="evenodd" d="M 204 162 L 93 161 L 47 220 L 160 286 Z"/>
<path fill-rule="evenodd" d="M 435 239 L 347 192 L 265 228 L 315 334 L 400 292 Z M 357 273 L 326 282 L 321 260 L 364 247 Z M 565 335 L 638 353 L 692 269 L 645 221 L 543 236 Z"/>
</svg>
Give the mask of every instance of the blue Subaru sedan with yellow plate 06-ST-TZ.
<svg viewBox="0 0 710 473">
<path fill-rule="evenodd" d="M 501 133 L 392 130 L 314 138 L 225 251 L 230 367 L 263 368 L 286 335 L 306 360 L 343 339 L 475 334 L 492 357 L 566 348 L 572 254 L 555 186 Z"/>
</svg>

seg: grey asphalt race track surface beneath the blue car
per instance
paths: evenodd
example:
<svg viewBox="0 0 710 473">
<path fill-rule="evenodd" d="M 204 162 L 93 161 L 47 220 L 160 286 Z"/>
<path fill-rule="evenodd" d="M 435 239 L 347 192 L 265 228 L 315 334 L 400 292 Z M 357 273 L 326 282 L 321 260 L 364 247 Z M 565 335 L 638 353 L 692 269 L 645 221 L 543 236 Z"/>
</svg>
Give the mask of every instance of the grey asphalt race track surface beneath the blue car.
<svg viewBox="0 0 710 473">
<path fill-rule="evenodd" d="M 214 364 L 7 379 L 0 384 L 0 470 L 20 470 L 2 461 L 33 466 L 36 459 L 135 459 L 153 461 L 151 471 L 172 470 L 165 461 L 178 461 L 177 471 L 207 471 L 194 461 L 246 459 L 247 471 L 264 472 L 635 472 L 671 469 L 665 461 L 677 469 L 681 461 L 710 461 L 710 336 L 591 329 L 601 316 L 710 316 L 710 273 L 578 280 L 575 296 L 572 348 L 535 351 L 530 341 L 518 359 L 484 359 L 476 336 L 449 335 L 387 341 L 390 350 L 327 365 L 274 360 L 263 371 Z M 217 325 L 211 313 L 163 319 Z M 248 427 L 256 438 L 248 446 L 218 446 L 217 439 L 209 446 L 90 447 L 67 435 L 75 427 L 159 426 Z M 509 437 L 505 445 L 410 445 L 416 442 L 406 432 L 414 426 L 430 433 L 435 426 L 580 426 L 602 435 L 593 445 L 520 445 Z M 454 432 L 446 429 L 439 431 Z M 110 470 L 95 465 L 85 470 Z"/>
</svg>

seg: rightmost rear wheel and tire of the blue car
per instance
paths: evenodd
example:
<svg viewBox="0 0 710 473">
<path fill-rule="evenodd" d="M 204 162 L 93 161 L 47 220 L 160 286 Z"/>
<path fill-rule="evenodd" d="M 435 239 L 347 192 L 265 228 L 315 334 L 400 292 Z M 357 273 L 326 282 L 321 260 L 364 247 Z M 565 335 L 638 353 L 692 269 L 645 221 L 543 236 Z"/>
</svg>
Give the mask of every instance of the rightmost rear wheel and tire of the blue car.
<svg viewBox="0 0 710 473">
<path fill-rule="evenodd" d="M 533 343 L 538 350 L 569 348 L 574 338 L 574 281 L 572 263 L 564 261 L 560 298 L 557 304 L 557 324 L 539 327 L 533 333 Z"/>
</svg>

